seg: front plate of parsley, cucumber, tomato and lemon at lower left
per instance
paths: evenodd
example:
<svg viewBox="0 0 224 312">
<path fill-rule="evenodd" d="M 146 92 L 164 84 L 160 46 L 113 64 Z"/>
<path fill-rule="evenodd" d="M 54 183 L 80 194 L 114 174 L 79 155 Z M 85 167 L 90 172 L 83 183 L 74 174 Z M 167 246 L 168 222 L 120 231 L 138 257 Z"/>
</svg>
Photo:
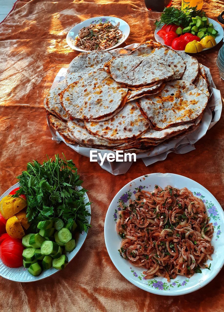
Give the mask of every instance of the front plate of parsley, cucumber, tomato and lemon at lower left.
<svg viewBox="0 0 224 312">
<path fill-rule="evenodd" d="M 64 156 L 64 155 L 63 155 Z M 82 247 L 91 221 L 72 160 L 27 163 L 0 197 L 0 276 L 32 282 L 62 270 Z"/>
</svg>

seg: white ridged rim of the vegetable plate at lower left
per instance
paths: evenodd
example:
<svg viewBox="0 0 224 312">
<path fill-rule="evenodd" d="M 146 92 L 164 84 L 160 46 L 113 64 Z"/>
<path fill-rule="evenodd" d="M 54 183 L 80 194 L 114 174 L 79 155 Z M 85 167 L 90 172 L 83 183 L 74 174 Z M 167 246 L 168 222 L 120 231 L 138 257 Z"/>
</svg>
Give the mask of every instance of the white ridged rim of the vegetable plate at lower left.
<svg viewBox="0 0 224 312">
<path fill-rule="evenodd" d="M 16 184 L 12 185 L 9 189 L 7 189 L 7 191 L 6 191 L 5 193 L 3 193 L 2 196 L 0 197 L 0 201 L 1 201 L 1 199 L 2 199 L 4 196 L 7 196 L 14 188 L 17 188 L 17 187 L 19 187 L 19 183 L 16 183 Z M 79 189 L 81 189 L 81 188 L 82 188 L 82 187 L 79 187 Z M 89 202 L 89 197 L 88 197 L 88 195 L 87 195 L 86 193 L 84 194 L 84 202 L 85 202 L 85 203 Z M 90 206 L 90 205 L 89 205 L 89 206 L 86 206 L 86 209 L 87 209 L 88 212 L 90 212 L 90 214 L 91 214 L 91 206 Z M 87 216 L 86 219 L 88 220 L 89 223 L 91 222 L 91 216 Z M 84 233 L 79 233 L 79 234 L 77 234 L 78 240 L 79 240 L 79 241 L 78 241 L 78 244 L 77 244 L 77 241 L 75 241 L 75 243 L 76 243 L 75 249 L 74 249 L 72 252 L 67 253 L 67 257 L 68 257 L 68 260 L 69 260 L 68 265 L 69 265 L 69 263 L 75 258 L 75 256 L 77 255 L 77 253 L 78 253 L 78 252 L 80 251 L 80 249 L 82 248 L 82 246 L 83 246 L 83 244 L 84 244 L 84 242 L 85 242 L 85 240 L 86 240 L 87 234 L 88 234 L 88 232 L 87 232 L 87 233 L 84 232 Z M 78 247 L 78 248 L 77 248 L 77 247 Z M 40 274 L 39 276 L 32 276 L 31 274 L 28 273 L 28 276 L 29 276 L 30 280 L 22 280 L 22 279 L 19 279 L 19 280 L 18 280 L 18 279 L 9 278 L 9 277 L 3 275 L 3 274 L 2 274 L 2 269 L 8 270 L 8 271 L 9 271 L 9 274 L 10 274 L 10 271 L 11 271 L 11 272 L 12 272 L 12 271 L 16 271 L 16 269 L 19 270 L 19 271 L 27 271 L 27 269 L 25 269 L 23 266 L 18 267 L 18 268 L 9 268 L 9 267 L 5 266 L 5 265 L 2 263 L 1 259 L 0 259 L 0 276 L 2 276 L 3 278 L 5 278 L 5 279 L 7 279 L 7 280 L 12 280 L 12 281 L 14 281 L 14 282 L 21 282 L 21 283 L 29 283 L 29 282 L 35 282 L 35 281 L 37 281 L 37 280 L 43 280 L 43 279 L 45 279 L 45 278 L 47 278 L 47 277 L 49 277 L 49 276 L 51 276 L 51 275 L 54 275 L 54 274 L 56 274 L 57 272 L 61 271 L 61 270 L 56 270 L 56 269 L 54 269 L 53 267 L 51 267 L 51 269 L 49 269 L 49 270 L 44 270 L 44 271 L 42 271 L 41 274 Z M 65 270 L 66 270 L 66 269 L 67 269 L 67 266 L 66 266 Z M 50 272 L 51 272 L 51 273 L 50 273 Z M 14 273 L 14 274 L 16 274 L 16 273 Z M 23 274 L 22 274 L 21 276 L 23 276 Z"/>
</svg>

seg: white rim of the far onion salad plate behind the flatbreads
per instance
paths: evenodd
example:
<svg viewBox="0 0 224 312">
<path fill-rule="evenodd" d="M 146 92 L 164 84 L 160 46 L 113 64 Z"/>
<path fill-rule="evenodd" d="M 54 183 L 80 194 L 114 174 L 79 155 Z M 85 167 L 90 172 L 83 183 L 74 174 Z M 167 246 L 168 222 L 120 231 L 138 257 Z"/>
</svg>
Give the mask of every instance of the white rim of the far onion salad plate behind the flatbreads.
<svg viewBox="0 0 224 312">
<path fill-rule="evenodd" d="M 82 21 L 80 22 L 79 24 L 73 26 L 70 31 L 67 33 L 67 36 L 66 36 L 66 42 L 67 44 L 73 49 L 73 50 L 76 50 L 76 51 L 80 51 L 80 52 L 90 52 L 91 50 L 84 50 L 84 49 L 80 49 L 78 47 L 76 47 L 75 45 L 73 45 L 71 42 L 70 42 L 70 39 L 71 38 L 71 35 L 70 35 L 70 32 L 73 32 L 74 28 L 77 28 L 78 29 L 78 32 L 80 31 L 80 29 L 82 27 L 86 27 L 87 25 L 84 25 L 86 24 L 86 22 L 89 22 L 88 25 L 90 25 L 91 21 L 95 20 L 95 19 L 100 19 L 100 18 L 107 18 L 107 19 L 110 19 L 110 20 L 114 20 L 116 19 L 116 22 L 122 22 L 124 23 L 124 26 L 127 27 L 127 30 L 126 30 L 126 34 L 124 34 L 124 31 L 123 31 L 123 37 L 121 37 L 120 41 L 115 45 L 115 46 L 112 46 L 108 49 L 105 49 L 104 51 L 109 51 L 109 50 L 112 50 L 116 47 L 118 47 L 119 45 L 121 45 L 129 36 L 129 33 L 130 33 L 130 27 L 128 25 L 127 22 L 125 22 L 124 20 L 122 20 L 121 18 L 119 17 L 113 17 L 113 16 L 97 16 L 97 17 L 92 17 L 92 18 L 88 18 L 86 19 L 85 21 Z M 121 25 L 120 25 L 121 26 Z M 120 27 L 119 27 L 120 28 Z M 72 36 L 76 37 L 78 35 L 78 32 Z"/>
</svg>

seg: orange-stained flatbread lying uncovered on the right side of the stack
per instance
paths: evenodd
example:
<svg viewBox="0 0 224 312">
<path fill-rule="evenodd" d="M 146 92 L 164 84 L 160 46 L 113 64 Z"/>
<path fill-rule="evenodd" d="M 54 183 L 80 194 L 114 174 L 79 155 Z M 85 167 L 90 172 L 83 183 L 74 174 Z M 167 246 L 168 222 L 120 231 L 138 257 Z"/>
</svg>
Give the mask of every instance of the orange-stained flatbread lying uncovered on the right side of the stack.
<svg viewBox="0 0 224 312">
<path fill-rule="evenodd" d="M 208 97 L 192 83 L 174 80 L 158 94 L 137 101 L 142 114 L 160 130 L 195 120 L 204 111 Z"/>
</svg>

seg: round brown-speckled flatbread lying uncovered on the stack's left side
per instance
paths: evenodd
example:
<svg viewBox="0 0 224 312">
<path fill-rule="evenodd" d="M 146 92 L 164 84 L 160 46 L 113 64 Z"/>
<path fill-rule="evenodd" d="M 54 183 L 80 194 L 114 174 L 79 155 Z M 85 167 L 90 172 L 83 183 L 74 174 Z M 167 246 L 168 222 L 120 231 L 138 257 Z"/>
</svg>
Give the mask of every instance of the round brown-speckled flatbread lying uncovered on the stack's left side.
<svg viewBox="0 0 224 312">
<path fill-rule="evenodd" d="M 104 69 L 89 73 L 61 93 L 62 106 L 73 118 L 101 119 L 121 108 L 128 88 L 114 81 Z"/>
</svg>

